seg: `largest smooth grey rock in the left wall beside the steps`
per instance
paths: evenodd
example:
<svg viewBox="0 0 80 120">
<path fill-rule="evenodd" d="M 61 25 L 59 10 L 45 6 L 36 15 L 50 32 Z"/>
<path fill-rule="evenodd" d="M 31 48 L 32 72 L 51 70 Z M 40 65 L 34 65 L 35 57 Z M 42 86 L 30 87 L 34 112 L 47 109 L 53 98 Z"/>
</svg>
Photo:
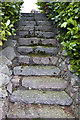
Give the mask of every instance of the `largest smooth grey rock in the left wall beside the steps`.
<svg viewBox="0 0 80 120">
<path fill-rule="evenodd" d="M 16 57 L 15 51 L 12 47 L 6 47 L 1 52 L 0 55 L 6 56 L 9 60 L 13 60 Z"/>
</svg>

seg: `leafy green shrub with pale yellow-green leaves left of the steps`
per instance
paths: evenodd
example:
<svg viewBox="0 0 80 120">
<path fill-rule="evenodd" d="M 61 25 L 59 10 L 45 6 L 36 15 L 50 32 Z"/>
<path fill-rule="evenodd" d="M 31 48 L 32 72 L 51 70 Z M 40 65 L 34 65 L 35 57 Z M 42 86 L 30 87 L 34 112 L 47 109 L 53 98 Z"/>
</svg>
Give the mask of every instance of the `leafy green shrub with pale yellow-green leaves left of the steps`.
<svg viewBox="0 0 80 120">
<path fill-rule="evenodd" d="M 0 3 L 0 45 L 11 35 L 16 35 L 15 23 L 19 20 L 20 8 L 23 2 Z"/>
</svg>

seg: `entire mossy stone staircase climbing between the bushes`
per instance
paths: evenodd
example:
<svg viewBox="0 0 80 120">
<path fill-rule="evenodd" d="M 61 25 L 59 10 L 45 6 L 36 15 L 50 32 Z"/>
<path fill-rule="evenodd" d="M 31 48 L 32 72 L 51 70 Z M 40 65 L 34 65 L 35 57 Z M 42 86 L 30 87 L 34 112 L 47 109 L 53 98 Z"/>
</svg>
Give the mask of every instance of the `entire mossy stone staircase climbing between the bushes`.
<svg viewBox="0 0 80 120">
<path fill-rule="evenodd" d="M 74 118 L 66 92 L 69 83 L 58 66 L 56 32 L 44 14 L 22 14 L 8 119 Z"/>
</svg>

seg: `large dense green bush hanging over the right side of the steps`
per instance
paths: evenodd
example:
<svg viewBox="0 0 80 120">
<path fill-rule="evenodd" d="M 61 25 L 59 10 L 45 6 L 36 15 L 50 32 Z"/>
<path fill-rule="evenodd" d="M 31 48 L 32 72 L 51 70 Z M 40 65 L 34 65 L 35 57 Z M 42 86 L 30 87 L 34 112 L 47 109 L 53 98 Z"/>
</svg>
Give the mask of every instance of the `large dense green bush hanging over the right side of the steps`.
<svg viewBox="0 0 80 120">
<path fill-rule="evenodd" d="M 57 36 L 69 55 L 71 69 L 80 75 L 80 2 L 52 2 L 37 5 L 60 28 Z"/>
</svg>

